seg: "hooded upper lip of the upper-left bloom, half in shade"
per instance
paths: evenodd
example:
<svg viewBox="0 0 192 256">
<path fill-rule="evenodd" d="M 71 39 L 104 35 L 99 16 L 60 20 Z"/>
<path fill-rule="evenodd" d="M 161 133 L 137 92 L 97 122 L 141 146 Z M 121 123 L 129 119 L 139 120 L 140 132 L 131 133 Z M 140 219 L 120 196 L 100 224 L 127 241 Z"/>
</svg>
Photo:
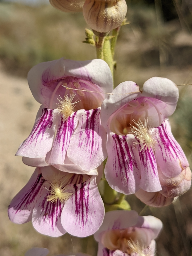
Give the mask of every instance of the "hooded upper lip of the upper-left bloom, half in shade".
<svg viewBox="0 0 192 256">
<path fill-rule="evenodd" d="M 67 89 L 62 87 L 61 84 L 65 85 L 67 83 L 69 88 L 87 88 L 88 90 L 91 89 L 90 91 L 101 92 L 94 95 L 96 107 L 101 106 L 103 99 L 106 97 L 106 95 L 102 95 L 102 92 L 110 93 L 113 88 L 110 68 L 105 61 L 100 59 L 73 61 L 61 58 L 59 60 L 39 63 L 29 71 L 28 83 L 34 98 L 47 108 L 56 108 L 56 103 L 59 103 L 57 101 L 59 95 L 62 98 L 64 95 L 66 96 Z M 86 97 L 87 94 L 82 91 L 74 91 L 74 93 L 76 93 L 76 98 L 82 98 L 83 96 L 81 95 L 83 94 Z M 68 90 L 68 94 L 72 94 L 72 92 Z M 89 97 L 91 94 L 89 93 Z M 98 99 L 99 101 L 97 102 Z M 82 101 L 78 104 L 82 104 Z M 86 103 L 84 102 L 84 104 Z M 92 106 L 95 105 L 91 104 Z M 94 106 L 78 107 L 78 109 L 93 108 Z"/>
</svg>

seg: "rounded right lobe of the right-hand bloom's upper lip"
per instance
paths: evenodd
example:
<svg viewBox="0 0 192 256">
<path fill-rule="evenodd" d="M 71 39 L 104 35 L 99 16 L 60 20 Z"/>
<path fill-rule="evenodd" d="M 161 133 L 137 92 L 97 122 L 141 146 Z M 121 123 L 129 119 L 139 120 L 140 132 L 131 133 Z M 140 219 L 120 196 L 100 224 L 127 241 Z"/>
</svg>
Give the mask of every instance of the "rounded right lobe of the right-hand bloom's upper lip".
<svg viewBox="0 0 192 256">
<path fill-rule="evenodd" d="M 177 86 L 171 80 L 163 77 L 152 77 L 143 84 L 141 96 L 165 102 L 166 107 L 161 114 L 164 118 L 167 118 L 176 109 L 179 92 Z"/>
</svg>

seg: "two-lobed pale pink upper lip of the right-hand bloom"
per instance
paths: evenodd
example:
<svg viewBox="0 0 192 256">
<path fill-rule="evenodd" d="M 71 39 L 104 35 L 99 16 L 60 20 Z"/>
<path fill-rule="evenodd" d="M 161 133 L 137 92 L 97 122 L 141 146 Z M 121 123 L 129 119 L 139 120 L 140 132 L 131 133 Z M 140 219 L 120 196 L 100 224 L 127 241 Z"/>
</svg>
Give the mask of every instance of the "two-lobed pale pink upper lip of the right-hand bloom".
<svg viewBox="0 0 192 256">
<path fill-rule="evenodd" d="M 125 94 L 123 94 L 123 92 Z M 157 117 L 153 117 L 153 113 L 151 113 L 151 116 L 148 114 L 148 123 L 153 127 L 157 127 L 165 118 L 175 111 L 178 101 L 178 88 L 169 79 L 161 77 L 148 79 L 143 84 L 142 91 L 140 91 L 139 86 L 132 81 L 123 82 L 112 91 L 112 94 L 109 95 L 101 105 L 102 125 L 105 128 L 109 126 L 110 129 L 110 122 L 115 112 L 120 112 L 125 105 L 129 105 L 129 103 L 134 102 L 135 99 L 146 99 L 147 104 L 150 104 L 150 107 L 156 110 Z M 129 108 L 131 107 L 135 108 L 135 110 L 137 109 L 137 107 L 129 105 Z M 132 120 L 133 119 L 138 121 L 134 117 Z M 142 120 L 143 118 L 140 119 Z"/>
</svg>

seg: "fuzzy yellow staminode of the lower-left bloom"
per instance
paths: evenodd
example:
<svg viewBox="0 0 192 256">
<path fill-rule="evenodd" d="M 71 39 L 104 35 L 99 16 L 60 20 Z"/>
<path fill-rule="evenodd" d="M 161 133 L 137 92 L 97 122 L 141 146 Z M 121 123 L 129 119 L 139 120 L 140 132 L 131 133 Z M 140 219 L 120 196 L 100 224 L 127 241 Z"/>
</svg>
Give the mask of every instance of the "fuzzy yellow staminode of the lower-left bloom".
<svg viewBox="0 0 192 256">
<path fill-rule="evenodd" d="M 59 174 L 51 176 L 47 181 L 51 187 L 48 189 L 49 195 L 47 196 L 47 201 L 56 203 L 59 199 L 63 204 L 72 196 L 73 193 L 66 191 L 66 180 Z"/>
</svg>

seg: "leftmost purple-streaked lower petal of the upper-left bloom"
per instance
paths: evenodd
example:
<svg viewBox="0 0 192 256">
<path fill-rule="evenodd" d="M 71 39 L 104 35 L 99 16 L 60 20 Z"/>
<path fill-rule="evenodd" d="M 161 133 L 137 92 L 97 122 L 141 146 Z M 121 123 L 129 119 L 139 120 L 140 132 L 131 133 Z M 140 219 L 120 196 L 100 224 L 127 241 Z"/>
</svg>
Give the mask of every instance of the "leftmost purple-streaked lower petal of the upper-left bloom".
<svg viewBox="0 0 192 256">
<path fill-rule="evenodd" d="M 53 144 L 55 135 L 54 119 L 54 111 L 44 108 L 35 127 L 28 138 L 20 145 L 15 155 L 31 158 L 44 157 L 51 150 Z"/>
</svg>

